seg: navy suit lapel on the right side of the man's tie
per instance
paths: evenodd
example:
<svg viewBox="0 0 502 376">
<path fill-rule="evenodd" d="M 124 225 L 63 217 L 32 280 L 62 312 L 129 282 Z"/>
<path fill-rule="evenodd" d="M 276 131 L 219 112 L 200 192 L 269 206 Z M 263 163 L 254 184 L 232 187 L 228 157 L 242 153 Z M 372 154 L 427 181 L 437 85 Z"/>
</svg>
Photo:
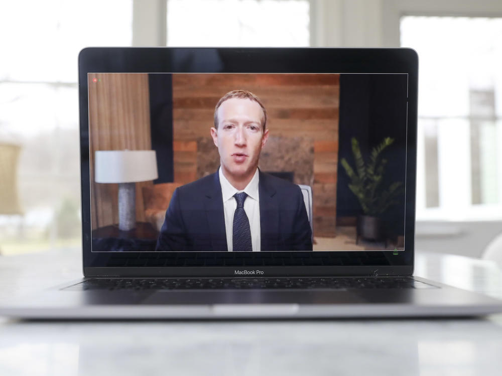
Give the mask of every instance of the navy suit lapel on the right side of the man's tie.
<svg viewBox="0 0 502 376">
<path fill-rule="evenodd" d="M 276 190 L 267 175 L 260 171 L 260 235 L 261 250 L 277 250 L 279 244 L 279 206 Z"/>
</svg>

